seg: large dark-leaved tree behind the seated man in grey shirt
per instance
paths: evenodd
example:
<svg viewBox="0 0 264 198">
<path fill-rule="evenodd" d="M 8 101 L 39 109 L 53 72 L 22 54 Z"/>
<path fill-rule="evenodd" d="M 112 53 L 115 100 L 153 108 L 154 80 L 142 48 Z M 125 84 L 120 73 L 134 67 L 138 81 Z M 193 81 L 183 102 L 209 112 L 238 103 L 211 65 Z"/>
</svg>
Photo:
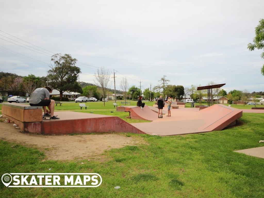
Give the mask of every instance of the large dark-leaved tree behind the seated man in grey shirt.
<svg viewBox="0 0 264 198">
<path fill-rule="evenodd" d="M 76 67 L 77 59 L 70 54 L 54 54 L 51 56 L 54 65 L 50 65 L 48 71 L 49 84 L 60 92 L 60 100 L 65 91 L 81 92 L 82 88 L 77 82 L 81 69 Z"/>
</svg>

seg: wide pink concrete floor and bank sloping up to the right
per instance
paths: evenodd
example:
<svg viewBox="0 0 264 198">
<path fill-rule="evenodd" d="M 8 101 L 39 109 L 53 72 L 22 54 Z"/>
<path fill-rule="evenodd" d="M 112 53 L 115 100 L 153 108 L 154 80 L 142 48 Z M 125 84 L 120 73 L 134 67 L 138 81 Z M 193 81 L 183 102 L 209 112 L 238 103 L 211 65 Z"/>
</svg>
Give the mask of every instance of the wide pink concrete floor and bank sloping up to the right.
<svg viewBox="0 0 264 198">
<path fill-rule="evenodd" d="M 196 109 L 172 109 L 171 117 L 163 116 L 153 122 L 132 125 L 152 135 L 180 135 L 222 130 L 242 116 L 242 110 L 225 105 L 213 105 L 200 111 Z"/>
</svg>

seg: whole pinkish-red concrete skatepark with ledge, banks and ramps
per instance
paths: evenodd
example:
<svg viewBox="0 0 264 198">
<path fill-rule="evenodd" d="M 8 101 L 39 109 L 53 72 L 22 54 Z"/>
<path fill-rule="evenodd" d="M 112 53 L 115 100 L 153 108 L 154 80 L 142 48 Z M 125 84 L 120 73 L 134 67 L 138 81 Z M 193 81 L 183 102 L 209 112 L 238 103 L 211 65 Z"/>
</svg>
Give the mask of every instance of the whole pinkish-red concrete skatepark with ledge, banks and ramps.
<svg viewBox="0 0 264 198">
<path fill-rule="evenodd" d="M 155 105 L 154 105 L 155 106 Z M 205 109 L 179 108 L 171 110 L 171 117 L 158 118 L 157 108 L 145 106 L 116 107 L 117 111 L 128 112 L 131 119 L 151 122 L 132 123 L 117 116 L 87 114 L 72 111 L 59 111 L 60 120 L 42 119 L 41 107 L 25 104 L 3 104 L 2 114 L 12 120 L 21 130 L 44 135 L 73 133 L 137 133 L 149 135 L 180 135 L 222 130 L 234 125 L 242 116 L 242 110 L 216 104 Z M 121 110 L 120 110 L 121 109 Z M 163 114 L 167 113 L 164 107 Z"/>
</svg>

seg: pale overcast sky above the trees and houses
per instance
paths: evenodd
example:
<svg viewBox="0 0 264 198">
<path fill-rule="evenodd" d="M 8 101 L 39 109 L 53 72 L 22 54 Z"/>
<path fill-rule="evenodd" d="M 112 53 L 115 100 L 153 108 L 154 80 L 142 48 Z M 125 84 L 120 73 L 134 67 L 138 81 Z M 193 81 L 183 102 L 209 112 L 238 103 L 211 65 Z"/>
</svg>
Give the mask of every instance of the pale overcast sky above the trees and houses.
<svg viewBox="0 0 264 198">
<path fill-rule="evenodd" d="M 0 70 L 45 76 L 50 56 L 67 53 L 87 64 L 78 63 L 80 81 L 93 83 L 96 67 L 117 70 L 117 89 L 124 76 L 144 89 L 166 75 L 184 87 L 214 81 L 227 91 L 264 91 L 263 50 L 247 50 L 263 7 L 263 0 L 1 1 Z"/>
</svg>

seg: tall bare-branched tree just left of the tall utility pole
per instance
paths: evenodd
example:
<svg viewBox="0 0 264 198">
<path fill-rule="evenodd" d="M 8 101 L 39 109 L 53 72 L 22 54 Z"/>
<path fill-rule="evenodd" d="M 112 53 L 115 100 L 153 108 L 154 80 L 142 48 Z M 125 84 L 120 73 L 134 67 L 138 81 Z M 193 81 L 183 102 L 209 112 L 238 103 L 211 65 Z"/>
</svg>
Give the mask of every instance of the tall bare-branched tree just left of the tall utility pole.
<svg viewBox="0 0 264 198">
<path fill-rule="evenodd" d="M 102 90 L 103 98 L 106 98 L 107 89 L 111 86 L 110 75 L 111 72 L 104 67 L 97 69 L 97 73 L 95 73 L 95 79 Z M 105 100 L 103 100 L 103 106 L 105 106 Z"/>
</svg>

